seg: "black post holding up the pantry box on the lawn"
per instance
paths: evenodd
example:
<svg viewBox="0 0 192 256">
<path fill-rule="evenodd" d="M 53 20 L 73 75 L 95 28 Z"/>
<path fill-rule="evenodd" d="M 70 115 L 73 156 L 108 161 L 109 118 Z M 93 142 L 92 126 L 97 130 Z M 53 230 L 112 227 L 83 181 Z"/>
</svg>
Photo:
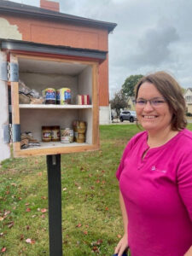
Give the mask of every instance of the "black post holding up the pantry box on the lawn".
<svg viewBox="0 0 192 256">
<path fill-rule="evenodd" d="M 62 256 L 61 154 L 47 155 L 49 256 Z"/>
</svg>

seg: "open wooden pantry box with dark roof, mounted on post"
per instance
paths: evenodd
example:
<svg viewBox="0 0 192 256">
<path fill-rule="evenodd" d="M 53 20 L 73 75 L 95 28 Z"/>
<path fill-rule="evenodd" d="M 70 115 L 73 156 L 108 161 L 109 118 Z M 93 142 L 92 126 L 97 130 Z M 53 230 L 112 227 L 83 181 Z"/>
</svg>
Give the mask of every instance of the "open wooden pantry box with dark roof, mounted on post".
<svg viewBox="0 0 192 256">
<path fill-rule="evenodd" d="M 8 127 L 12 127 L 15 157 L 84 152 L 99 148 L 98 67 L 106 58 L 106 52 L 90 49 L 53 47 L 23 41 L 3 40 L 1 49 L 1 81 L 3 108 L 2 150 L 8 150 Z M 16 44 L 15 44 L 16 43 Z M 9 60 L 9 61 L 8 61 Z M 4 66 L 9 64 L 9 81 L 4 81 Z M 71 104 L 24 104 L 19 100 L 20 81 L 40 94 L 46 88 L 69 88 Z M 11 91 L 11 106 L 8 100 Z M 89 95 L 89 105 L 78 105 L 78 95 Z M 7 108 L 6 108 L 7 105 Z M 9 107 L 9 108 L 8 108 Z M 9 109 L 9 111 L 8 111 Z M 9 125 L 11 112 L 12 125 Z M 85 143 L 42 142 L 42 126 L 59 125 L 73 128 L 73 121 L 86 123 Z M 0 119 L 1 122 L 1 119 Z M 40 146 L 20 147 L 20 134 L 32 132 Z M 5 144 L 7 143 L 7 144 Z M 3 157 L 5 158 L 5 157 Z"/>
</svg>

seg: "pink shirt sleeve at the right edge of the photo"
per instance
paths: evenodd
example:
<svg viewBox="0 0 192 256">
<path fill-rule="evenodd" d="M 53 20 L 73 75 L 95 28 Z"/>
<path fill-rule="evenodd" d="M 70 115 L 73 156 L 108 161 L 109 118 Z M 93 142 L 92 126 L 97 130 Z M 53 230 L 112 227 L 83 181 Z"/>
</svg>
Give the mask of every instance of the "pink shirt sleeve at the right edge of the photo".
<svg viewBox="0 0 192 256">
<path fill-rule="evenodd" d="M 178 192 L 192 221 L 192 152 L 185 154 L 177 170 Z"/>
</svg>

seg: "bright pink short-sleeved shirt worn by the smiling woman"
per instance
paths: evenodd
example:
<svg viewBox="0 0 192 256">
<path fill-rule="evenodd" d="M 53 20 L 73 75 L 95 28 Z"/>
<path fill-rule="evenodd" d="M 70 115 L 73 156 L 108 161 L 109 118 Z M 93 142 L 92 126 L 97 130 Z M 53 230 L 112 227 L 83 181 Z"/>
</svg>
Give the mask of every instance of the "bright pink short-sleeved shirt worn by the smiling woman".
<svg viewBox="0 0 192 256">
<path fill-rule="evenodd" d="M 192 245 L 192 132 L 178 132 L 142 160 L 147 137 L 131 138 L 116 173 L 131 256 L 183 256 Z"/>
</svg>

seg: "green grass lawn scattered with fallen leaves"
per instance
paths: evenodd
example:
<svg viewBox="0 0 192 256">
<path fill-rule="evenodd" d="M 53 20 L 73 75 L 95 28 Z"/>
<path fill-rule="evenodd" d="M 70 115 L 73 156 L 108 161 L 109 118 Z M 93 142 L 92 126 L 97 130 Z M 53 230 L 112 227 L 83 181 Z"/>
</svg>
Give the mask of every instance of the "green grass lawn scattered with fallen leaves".
<svg viewBox="0 0 192 256">
<path fill-rule="evenodd" d="M 112 255 L 123 232 L 115 171 L 139 130 L 102 125 L 100 131 L 99 151 L 61 155 L 63 255 Z M 3 161 L 0 255 L 49 255 L 47 189 L 46 157 Z"/>
</svg>

